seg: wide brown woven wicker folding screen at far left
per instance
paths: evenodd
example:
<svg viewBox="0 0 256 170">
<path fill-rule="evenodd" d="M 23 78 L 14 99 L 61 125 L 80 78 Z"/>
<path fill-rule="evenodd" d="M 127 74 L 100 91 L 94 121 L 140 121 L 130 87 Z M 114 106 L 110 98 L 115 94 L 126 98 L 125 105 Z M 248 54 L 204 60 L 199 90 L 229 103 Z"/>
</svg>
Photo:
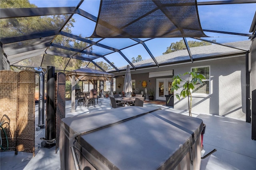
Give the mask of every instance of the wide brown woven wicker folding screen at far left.
<svg viewBox="0 0 256 170">
<path fill-rule="evenodd" d="M 1 151 L 31 152 L 35 146 L 35 73 L 0 71 Z"/>
</svg>

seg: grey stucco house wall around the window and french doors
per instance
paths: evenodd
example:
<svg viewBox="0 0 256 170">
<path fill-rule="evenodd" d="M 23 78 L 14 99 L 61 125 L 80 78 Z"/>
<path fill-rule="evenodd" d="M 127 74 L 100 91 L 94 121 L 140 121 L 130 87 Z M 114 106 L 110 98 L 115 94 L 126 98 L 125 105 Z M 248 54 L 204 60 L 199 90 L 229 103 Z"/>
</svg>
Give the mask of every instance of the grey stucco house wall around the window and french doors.
<svg viewBox="0 0 256 170">
<path fill-rule="evenodd" d="M 174 70 L 174 75 L 183 74 L 191 71 L 191 67 L 210 66 L 210 95 L 195 95 L 192 97 L 192 113 L 204 113 L 231 117 L 235 119 L 246 119 L 246 73 L 245 73 L 245 55 L 239 57 L 230 57 L 210 61 L 200 61 L 194 63 L 184 63 L 180 65 L 166 66 L 166 70 Z M 161 68 L 163 69 L 163 68 Z M 151 70 L 148 69 L 148 72 Z M 154 88 L 156 92 L 156 78 L 148 78 L 147 73 L 132 73 L 132 79 L 136 80 L 136 88 L 144 91 L 141 83 L 143 80 L 148 82 L 147 89 Z M 121 75 L 117 77 L 116 83 L 123 80 Z M 122 91 L 123 87 L 120 87 Z M 180 89 L 174 93 L 180 93 Z M 117 89 L 118 91 L 118 89 Z M 155 97 L 154 97 L 155 100 Z M 181 98 L 180 101 L 174 97 L 174 109 L 188 110 L 187 98 Z"/>
</svg>

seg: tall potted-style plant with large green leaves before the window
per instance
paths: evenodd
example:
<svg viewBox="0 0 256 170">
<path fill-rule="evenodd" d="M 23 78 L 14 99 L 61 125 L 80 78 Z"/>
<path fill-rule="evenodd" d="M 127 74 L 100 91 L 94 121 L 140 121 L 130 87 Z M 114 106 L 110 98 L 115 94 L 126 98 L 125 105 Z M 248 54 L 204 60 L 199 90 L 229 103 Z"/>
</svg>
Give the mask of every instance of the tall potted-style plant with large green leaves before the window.
<svg viewBox="0 0 256 170">
<path fill-rule="evenodd" d="M 188 79 L 184 79 L 182 77 L 188 75 Z M 191 108 L 192 108 L 192 95 L 191 92 L 193 89 L 195 89 L 195 86 L 197 83 L 200 83 L 200 85 L 203 85 L 203 79 L 205 79 L 204 75 L 200 73 L 195 72 L 186 72 L 183 75 L 174 75 L 172 78 L 172 86 L 171 86 L 171 93 L 173 93 L 175 90 L 178 90 L 180 87 L 180 83 L 184 82 L 183 89 L 180 92 L 180 94 L 175 94 L 178 100 L 180 100 L 180 97 L 185 98 L 188 96 L 188 112 L 189 116 L 192 116 L 191 114 Z M 171 98 L 171 97 L 170 97 Z M 170 101 L 170 98 L 168 102 Z"/>
</svg>

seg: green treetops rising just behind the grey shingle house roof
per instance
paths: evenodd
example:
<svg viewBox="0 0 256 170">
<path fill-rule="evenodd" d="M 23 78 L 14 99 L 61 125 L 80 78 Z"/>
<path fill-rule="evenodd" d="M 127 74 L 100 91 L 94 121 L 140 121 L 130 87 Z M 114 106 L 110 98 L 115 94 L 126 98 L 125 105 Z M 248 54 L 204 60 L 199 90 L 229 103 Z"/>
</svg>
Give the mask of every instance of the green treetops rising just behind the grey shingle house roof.
<svg viewBox="0 0 256 170">
<path fill-rule="evenodd" d="M 216 40 L 212 40 L 212 42 L 216 42 Z M 198 42 L 198 41 L 188 41 L 189 47 L 198 47 L 198 46 L 204 46 L 204 45 L 212 45 L 212 43 L 209 42 Z M 163 54 L 168 54 L 174 51 L 178 51 L 180 49 L 186 48 L 186 45 L 183 40 L 180 40 L 179 42 L 172 42 L 169 47 L 167 47 L 166 51 Z"/>
</svg>

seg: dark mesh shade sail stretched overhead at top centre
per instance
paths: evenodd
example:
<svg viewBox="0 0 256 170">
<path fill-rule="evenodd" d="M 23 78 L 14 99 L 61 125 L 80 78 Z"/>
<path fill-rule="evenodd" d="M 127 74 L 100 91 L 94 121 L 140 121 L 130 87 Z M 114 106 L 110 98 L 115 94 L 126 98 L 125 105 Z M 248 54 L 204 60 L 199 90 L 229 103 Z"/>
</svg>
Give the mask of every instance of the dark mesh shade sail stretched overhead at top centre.
<svg viewBox="0 0 256 170">
<path fill-rule="evenodd" d="M 195 0 L 102 0 L 92 37 L 207 37 Z"/>
</svg>

